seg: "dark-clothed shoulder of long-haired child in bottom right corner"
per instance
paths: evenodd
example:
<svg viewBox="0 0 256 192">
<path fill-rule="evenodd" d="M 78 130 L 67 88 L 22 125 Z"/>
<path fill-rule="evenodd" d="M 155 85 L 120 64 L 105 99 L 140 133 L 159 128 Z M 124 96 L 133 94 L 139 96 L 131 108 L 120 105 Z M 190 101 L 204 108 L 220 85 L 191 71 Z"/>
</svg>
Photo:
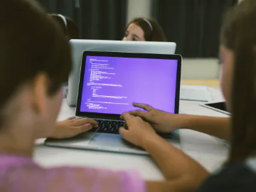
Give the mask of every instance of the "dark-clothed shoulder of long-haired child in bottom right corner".
<svg viewBox="0 0 256 192">
<path fill-rule="evenodd" d="M 256 189 L 255 171 L 242 162 L 237 162 L 225 166 L 218 174 L 214 174 L 203 183 L 198 192 L 211 191 L 234 191 L 250 192 Z"/>
</svg>

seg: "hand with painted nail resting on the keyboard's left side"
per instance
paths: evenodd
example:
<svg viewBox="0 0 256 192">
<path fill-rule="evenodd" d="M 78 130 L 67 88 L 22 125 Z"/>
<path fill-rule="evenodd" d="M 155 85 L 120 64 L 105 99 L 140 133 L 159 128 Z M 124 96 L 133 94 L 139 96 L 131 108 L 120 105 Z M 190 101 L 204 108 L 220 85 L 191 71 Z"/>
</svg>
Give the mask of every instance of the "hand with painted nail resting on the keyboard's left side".
<svg viewBox="0 0 256 192">
<path fill-rule="evenodd" d="M 75 137 L 78 134 L 87 132 L 92 129 L 92 127 L 98 127 L 97 122 L 93 119 L 76 119 L 75 117 L 70 117 L 56 123 L 55 130 L 53 134 L 50 135 L 50 138 L 65 139 Z"/>
</svg>

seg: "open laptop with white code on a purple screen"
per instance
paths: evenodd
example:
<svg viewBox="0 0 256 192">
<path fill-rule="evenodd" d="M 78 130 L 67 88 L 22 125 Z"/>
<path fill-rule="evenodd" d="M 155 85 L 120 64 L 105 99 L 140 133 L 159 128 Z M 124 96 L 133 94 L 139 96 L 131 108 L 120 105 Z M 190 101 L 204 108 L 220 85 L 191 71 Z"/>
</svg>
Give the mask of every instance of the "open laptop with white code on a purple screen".
<svg viewBox="0 0 256 192">
<path fill-rule="evenodd" d="M 76 117 L 99 122 L 98 129 L 71 139 L 46 139 L 48 146 L 147 154 L 119 135 L 132 103 L 178 113 L 181 55 L 85 51 L 82 54 Z M 160 134 L 180 148 L 178 131 Z"/>
</svg>

